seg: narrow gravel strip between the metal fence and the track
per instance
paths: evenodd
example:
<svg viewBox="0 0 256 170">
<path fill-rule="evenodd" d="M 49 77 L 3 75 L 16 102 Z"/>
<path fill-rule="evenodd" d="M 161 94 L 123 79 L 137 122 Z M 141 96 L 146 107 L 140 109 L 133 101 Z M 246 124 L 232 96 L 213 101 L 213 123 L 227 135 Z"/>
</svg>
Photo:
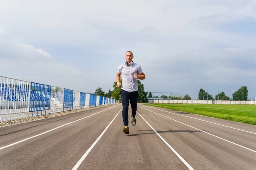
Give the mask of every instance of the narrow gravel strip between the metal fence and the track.
<svg viewBox="0 0 256 170">
<path fill-rule="evenodd" d="M 32 122 L 32 121 L 35 121 L 35 120 L 46 119 L 46 118 L 49 118 L 49 117 L 61 116 L 61 115 L 64 115 L 64 114 L 86 111 L 86 110 L 100 108 L 100 107 L 104 107 L 104 106 L 96 106 L 96 107 L 82 108 L 82 109 L 77 109 L 77 110 L 72 110 L 72 111 L 62 111 L 62 112 L 57 112 L 57 113 L 45 114 L 45 115 L 29 116 L 29 117 L 24 117 L 24 118 L 5 120 L 2 123 L 0 123 L 0 127 L 20 124 L 20 123 L 25 123 L 25 122 Z"/>
</svg>

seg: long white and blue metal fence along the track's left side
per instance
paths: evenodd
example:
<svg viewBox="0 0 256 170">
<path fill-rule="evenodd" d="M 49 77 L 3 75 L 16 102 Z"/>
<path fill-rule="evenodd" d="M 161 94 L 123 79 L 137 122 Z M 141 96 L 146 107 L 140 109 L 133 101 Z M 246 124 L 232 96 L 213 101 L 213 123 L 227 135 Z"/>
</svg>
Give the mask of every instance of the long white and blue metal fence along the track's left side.
<svg viewBox="0 0 256 170">
<path fill-rule="evenodd" d="M 0 121 L 109 105 L 115 99 L 0 76 Z"/>
</svg>

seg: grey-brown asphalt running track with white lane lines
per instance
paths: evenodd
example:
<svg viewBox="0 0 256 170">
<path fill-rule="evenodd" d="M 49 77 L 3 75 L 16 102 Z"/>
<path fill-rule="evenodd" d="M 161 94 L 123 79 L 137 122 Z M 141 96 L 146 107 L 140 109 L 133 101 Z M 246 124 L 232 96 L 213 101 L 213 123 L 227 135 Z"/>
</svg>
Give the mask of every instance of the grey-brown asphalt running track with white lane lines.
<svg viewBox="0 0 256 170">
<path fill-rule="evenodd" d="M 141 104 L 136 119 L 123 133 L 114 104 L 0 127 L 0 170 L 256 169 L 256 126 Z"/>
</svg>

